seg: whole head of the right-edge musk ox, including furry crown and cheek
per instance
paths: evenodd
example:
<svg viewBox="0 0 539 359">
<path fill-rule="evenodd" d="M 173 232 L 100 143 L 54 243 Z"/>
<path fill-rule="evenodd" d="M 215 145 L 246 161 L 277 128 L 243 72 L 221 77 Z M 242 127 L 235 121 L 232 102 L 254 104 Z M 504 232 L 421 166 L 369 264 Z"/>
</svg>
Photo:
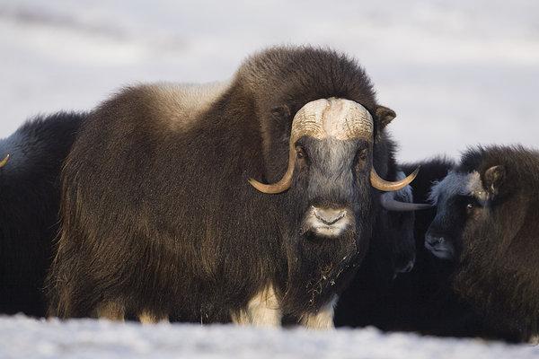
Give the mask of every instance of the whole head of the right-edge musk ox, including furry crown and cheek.
<svg viewBox="0 0 539 359">
<path fill-rule="evenodd" d="M 461 165 L 432 188 L 437 214 L 426 247 L 438 258 L 456 259 L 476 241 L 512 239 L 526 216 L 518 214 L 529 206 L 523 193 L 535 188 L 533 157 L 522 147 L 464 153 Z"/>
</svg>

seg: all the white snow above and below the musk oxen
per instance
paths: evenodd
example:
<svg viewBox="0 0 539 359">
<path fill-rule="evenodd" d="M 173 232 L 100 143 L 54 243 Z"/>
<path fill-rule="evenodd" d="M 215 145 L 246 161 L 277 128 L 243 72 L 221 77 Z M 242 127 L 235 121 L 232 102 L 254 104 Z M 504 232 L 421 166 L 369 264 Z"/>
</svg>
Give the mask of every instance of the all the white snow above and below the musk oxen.
<svg viewBox="0 0 539 359">
<path fill-rule="evenodd" d="M 0 0 L 0 137 L 25 118 L 92 109 L 137 82 L 209 82 L 275 44 L 358 58 L 399 157 L 539 135 L 539 2 L 454 0 Z M 0 358 L 519 358 L 535 346 L 305 330 L 0 318 Z"/>
</svg>

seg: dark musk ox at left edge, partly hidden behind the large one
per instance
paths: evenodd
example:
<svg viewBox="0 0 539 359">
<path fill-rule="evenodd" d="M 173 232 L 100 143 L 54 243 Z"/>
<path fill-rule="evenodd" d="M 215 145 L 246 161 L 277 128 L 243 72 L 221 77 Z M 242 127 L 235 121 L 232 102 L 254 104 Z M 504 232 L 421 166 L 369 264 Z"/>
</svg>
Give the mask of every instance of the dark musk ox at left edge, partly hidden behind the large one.
<svg viewBox="0 0 539 359">
<path fill-rule="evenodd" d="M 60 170 L 83 114 L 25 123 L 0 140 L 0 313 L 45 315 L 43 280 L 58 231 Z"/>
</svg>

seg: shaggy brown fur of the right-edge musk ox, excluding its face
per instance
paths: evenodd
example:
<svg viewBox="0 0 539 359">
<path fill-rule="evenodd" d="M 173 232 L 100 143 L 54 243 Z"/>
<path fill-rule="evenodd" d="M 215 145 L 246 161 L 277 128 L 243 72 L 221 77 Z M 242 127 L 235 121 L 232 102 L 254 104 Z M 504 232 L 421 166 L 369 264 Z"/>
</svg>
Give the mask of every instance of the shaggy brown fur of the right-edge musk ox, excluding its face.
<svg viewBox="0 0 539 359">
<path fill-rule="evenodd" d="M 494 186 L 486 171 L 503 166 Z M 456 169 L 479 172 L 489 199 L 468 215 L 453 285 L 494 328 L 539 333 L 539 152 L 490 146 L 464 153 Z"/>
</svg>

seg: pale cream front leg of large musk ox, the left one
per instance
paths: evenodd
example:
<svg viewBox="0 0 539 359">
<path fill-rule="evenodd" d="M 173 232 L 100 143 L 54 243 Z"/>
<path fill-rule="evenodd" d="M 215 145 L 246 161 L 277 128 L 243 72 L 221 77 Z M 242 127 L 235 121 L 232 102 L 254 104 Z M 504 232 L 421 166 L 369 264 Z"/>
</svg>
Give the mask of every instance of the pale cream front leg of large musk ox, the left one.
<svg viewBox="0 0 539 359">
<path fill-rule="evenodd" d="M 252 297 L 247 308 L 232 313 L 232 321 L 240 325 L 279 327 L 282 312 L 273 286 L 264 288 Z"/>
</svg>

